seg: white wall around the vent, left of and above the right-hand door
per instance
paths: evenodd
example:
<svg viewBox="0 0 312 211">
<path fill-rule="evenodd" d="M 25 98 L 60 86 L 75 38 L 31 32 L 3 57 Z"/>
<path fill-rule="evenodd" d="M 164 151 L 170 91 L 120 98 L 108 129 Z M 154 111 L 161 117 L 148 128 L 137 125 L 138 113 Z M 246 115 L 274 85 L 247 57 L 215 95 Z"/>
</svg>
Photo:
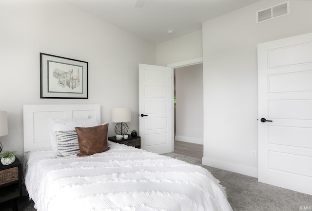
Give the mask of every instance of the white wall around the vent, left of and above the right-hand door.
<svg viewBox="0 0 312 211">
<path fill-rule="evenodd" d="M 257 44 L 312 32 L 312 1 L 291 0 L 291 15 L 255 23 L 261 0 L 203 23 L 203 164 L 257 176 Z"/>
</svg>

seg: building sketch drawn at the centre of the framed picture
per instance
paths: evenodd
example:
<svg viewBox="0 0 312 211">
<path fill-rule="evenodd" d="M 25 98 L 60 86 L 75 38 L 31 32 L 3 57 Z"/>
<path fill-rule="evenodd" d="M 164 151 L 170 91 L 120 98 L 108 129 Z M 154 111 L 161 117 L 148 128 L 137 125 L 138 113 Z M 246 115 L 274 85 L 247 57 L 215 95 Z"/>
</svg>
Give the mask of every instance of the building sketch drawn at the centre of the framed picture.
<svg viewBox="0 0 312 211">
<path fill-rule="evenodd" d="M 65 72 L 63 70 L 60 70 L 56 68 L 53 71 L 53 76 L 58 79 L 58 85 L 62 88 L 69 87 L 71 89 L 77 88 L 80 86 L 80 74 L 79 70 L 77 71 L 77 74 L 74 74 L 74 70 L 71 69 L 68 72 Z"/>
</svg>

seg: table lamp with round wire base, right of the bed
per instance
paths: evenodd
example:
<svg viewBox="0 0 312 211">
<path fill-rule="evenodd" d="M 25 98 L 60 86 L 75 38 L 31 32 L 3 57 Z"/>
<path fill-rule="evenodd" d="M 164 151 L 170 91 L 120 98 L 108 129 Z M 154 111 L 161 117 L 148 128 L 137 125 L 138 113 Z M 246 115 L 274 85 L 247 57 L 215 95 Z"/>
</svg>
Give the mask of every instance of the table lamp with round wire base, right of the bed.
<svg viewBox="0 0 312 211">
<path fill-rule="evenodd" d="M 112 122 L 117 123 L 115 126 L 117 135 L 126 135 L 129 130 L 126 123 L 131 122 L 131 109 L 122 107 L 112 108 Z"/>
</svg>

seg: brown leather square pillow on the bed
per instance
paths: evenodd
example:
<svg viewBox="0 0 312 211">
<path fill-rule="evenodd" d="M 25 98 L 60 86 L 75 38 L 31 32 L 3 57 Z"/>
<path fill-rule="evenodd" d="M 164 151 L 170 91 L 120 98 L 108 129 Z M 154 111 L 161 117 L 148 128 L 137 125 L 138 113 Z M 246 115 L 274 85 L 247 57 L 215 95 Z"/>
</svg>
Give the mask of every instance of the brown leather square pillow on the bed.
<svg viewBox="0 0 312 211">
<path fill-rule="evenodd" d="M 107 145 L 108 123 L 94 127 L 75 127 L 78 136 L 79 153 L 89 156 L 109 150 Z"/>
</svg>

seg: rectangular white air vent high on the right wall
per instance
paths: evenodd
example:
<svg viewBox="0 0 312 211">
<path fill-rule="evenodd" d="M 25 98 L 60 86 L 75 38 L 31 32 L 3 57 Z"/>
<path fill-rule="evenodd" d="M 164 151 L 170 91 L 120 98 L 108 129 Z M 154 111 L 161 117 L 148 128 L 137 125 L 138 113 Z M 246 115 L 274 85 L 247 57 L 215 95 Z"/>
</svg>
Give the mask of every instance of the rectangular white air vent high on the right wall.
<svg viewBox="0 0 312 211">
<path fill-rule="evenodd" d="M 288 0 L 284 3 L 258 11 L 256 13 L 256 23 L 261 23 L 263 21 L 271 20 L 273 18 L 286 16 L 290 13 L 290 1 Z"/>
</svg>

